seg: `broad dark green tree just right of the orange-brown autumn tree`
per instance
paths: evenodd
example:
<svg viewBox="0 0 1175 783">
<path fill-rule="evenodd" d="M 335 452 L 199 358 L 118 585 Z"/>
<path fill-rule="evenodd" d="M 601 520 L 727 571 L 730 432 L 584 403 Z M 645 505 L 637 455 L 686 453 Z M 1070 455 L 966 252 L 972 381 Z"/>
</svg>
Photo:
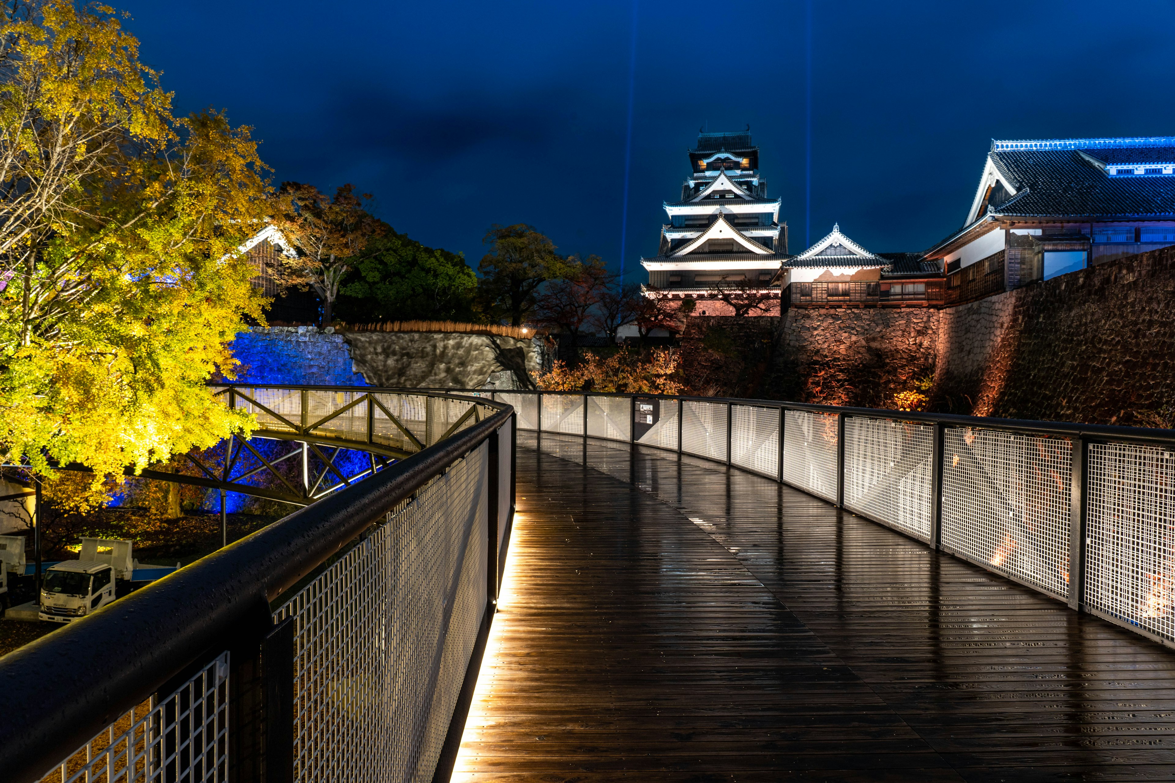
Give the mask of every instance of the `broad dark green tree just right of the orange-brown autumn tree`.
<svg viewBox="0 0 1175 783">
<path fill-rule="evenodd" d="M 458 252 L 428 248 L 385 227 L 340 289 L 343 320 L 475 318 L 477 276 Z"/>
</svg>

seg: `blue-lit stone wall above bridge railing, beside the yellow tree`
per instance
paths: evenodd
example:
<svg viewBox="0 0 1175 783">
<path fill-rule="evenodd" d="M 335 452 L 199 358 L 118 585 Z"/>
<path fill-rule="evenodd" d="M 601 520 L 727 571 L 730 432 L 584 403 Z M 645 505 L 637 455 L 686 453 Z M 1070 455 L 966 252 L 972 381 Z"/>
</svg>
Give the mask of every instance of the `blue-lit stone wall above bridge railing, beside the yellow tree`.
<svg viewBox="0 0 1175 783">
<path fill-rule="evenodd" d="M 254 329 L 236 336 L 233 355 L 241 362 L 236 383 L 368 385 L 343 336 L 314 326 Z"/>
</svg>

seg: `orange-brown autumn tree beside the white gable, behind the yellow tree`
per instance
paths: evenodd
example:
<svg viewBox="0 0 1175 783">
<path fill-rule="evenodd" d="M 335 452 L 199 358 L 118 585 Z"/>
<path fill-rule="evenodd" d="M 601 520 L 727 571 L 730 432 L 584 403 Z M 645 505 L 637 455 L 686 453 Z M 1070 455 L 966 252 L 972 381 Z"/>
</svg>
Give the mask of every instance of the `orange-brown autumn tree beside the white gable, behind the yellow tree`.
<svg viewBox="0 0 1175 783">
<path fill-rule="evenodd" d="M 338 286 L 347 272 L 377 255 L 371 239 L 387 231 L 368 212 L 370 194 L 341 185 L 334 197 L 300 182 L 286 182 L 276 196 L 274 227 L 293 245 L 295 257 L 282 256 L 277 279 L 298 288 L 310 286 L 322 299 L 322 325 L 334 318 Z"/>
</svg>

